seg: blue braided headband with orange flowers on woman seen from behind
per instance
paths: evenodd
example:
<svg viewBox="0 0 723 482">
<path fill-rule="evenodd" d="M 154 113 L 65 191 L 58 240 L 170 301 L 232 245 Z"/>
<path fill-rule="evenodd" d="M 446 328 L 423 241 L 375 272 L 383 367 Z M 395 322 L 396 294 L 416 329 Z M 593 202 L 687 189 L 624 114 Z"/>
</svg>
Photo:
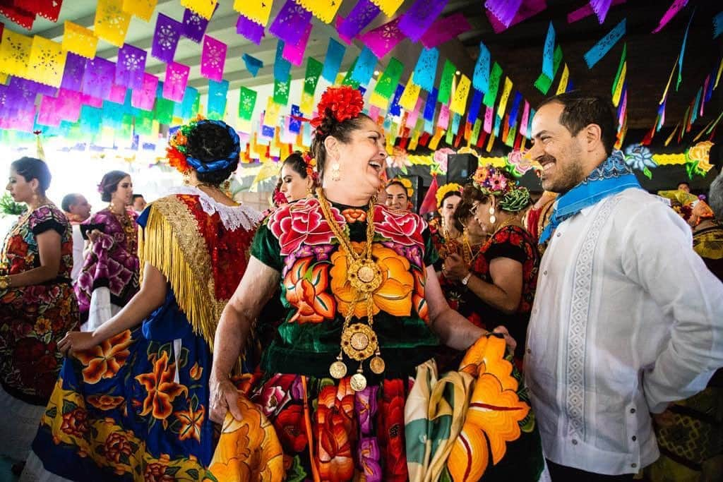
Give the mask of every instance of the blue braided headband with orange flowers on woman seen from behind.
<svg viewBox="0 0 723 482">
<path fill-rule="evenodd" d="M 234 143 L 234 147 L 231 149 L 231 152 L 228 156 L 226 156 L 226 158 L 214 160 L 210 163 L 203 163 L 197 158 L 188 155 L 188 136 L 200 124 L 216 124 L 217 126 L 221 126 L 223 129 L 226 129 L 228 136 L 231 137 L 231 142 Z M 239 134 L 236 134 L 233 127 L 223 121 L 203 119 L 202 116 L 198 116 L 197 119 L 181 126 L 176 133 L 168 139 L 168 147 L 166 147 L 168 164 L 184 174 L 187 174 L 192 168 L 194 171 L 199 173 L 223 171 L 239 159 L 240 152 L 241 144 L 239 142 Z"/>
</svg>

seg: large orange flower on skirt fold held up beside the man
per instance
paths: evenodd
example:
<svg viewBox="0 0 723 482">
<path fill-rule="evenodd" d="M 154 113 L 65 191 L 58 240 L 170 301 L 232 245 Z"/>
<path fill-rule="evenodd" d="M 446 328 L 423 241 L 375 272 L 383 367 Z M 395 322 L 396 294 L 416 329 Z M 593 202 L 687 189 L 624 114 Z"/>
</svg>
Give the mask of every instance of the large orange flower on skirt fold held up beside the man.
<svg viewBox="0 0 723 482">
<path fill-rule="evenodd" d="M 477 375 L 462 431 L 447 461 L 454 481 L 477 481 L 489 465 L 507 452 L 507 442 L 520 437 L 520 424 L 530 411 L 517 396 L 512 363 L 505 360 L 505 340 L 482 337 L 467 351 L 461 371 Z"/>
</svg>

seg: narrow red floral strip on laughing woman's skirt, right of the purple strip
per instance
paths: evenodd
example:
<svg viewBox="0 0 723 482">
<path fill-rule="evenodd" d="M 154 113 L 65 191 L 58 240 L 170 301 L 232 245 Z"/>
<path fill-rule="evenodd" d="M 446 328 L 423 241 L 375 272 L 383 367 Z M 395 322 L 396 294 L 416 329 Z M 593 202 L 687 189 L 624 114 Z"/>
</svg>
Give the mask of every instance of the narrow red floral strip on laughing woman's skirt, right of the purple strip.
<svg viewBox="0 0 723 482">
<path fill-rule="evenodd" d="M 385 481 L 406 481 L 404 455 L 404 383 L 401 379 L 385 380 L 382 387 L 382 407 L 379 411 L 380 448 Z"/>
</svg>

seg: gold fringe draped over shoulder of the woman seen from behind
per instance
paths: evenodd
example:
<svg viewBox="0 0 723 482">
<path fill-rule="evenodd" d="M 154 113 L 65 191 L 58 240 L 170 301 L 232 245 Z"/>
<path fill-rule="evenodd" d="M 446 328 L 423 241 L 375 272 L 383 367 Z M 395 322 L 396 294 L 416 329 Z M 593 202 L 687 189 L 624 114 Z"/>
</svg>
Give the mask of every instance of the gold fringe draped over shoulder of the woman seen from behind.
<svg viewBox="0 0 723 482">
<path fill-rule="evenodd" d="M 138 257 L 141 275 L 146 262 L 163 273 L 194 333 L 213 350 L 213 335 L 228 300 L 215 298 L 211 257 L 197 226 L 181 199 L 158 199 L 152 203 L 145 228 L 139 230 Z"/>
</svg>

